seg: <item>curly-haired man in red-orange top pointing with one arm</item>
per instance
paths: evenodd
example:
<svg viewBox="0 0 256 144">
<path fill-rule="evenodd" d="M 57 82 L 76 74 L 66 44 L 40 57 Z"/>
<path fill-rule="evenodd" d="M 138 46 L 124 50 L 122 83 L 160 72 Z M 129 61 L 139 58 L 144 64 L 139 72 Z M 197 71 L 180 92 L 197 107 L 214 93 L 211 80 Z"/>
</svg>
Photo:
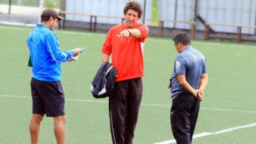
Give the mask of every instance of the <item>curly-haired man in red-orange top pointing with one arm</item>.
<svg viewBox="0 0 256 144">
<path fill-rule="evenodd" d="M 118 76 L 109 97 L 113 144 L 131 144 L 142 97 L 143 45 L 148 27 L 137 23 L 143 13 L 138 1 L 124 7 L 125 22 L 113 26 L 102 47 L 102 62 L 111 61 Z M 111 60 L 109 60 L 111 59 Z"/>
</svg>

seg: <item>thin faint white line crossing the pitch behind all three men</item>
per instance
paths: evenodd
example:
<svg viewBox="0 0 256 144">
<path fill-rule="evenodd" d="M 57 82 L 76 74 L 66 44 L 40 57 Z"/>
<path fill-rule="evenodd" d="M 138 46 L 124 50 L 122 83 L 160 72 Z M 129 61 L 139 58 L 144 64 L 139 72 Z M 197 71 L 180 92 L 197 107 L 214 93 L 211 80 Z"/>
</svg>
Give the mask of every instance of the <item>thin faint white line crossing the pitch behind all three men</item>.
<svg viewBox="0 0 256 144">
<path fill-rule="evenodd" d="M 20 95 L 3 95 L 0 94 L 0 97 L 16 97 L 16 98 L 22 98 L 22 99 L 31 99 L 31 97 L 27 96 L 20 96 Z M 65 99 L 67 101 L 72 101 L 72 102 L 103 102 L 103 103 L 108 103 L 108 100 L 83 100 L 83 99 Z M 171 105 L 166 105 L 166 104 L 141 104 L 142 106 L 155 106 L 155 107 L 166 107 L 166 108 L 171 108 Z M 200 109 L 205 109 L 209 111 L 227 111 L 227 112 L 236 112 L 236 113 L 256 113 L 256 111 L 243 111 L 243 110 L 232 110 L 232 109 L 212 109 L 212 108 L 200 108 Z"/>
</svg>

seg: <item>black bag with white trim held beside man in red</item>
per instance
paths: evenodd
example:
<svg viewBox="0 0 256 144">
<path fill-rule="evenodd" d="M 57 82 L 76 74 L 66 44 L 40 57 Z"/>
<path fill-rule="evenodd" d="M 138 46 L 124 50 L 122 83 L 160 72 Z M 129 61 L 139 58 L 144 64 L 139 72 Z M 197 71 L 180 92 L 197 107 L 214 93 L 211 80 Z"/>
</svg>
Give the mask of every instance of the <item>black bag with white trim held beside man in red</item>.
<svg viewBox="0 0 256 144">
<path fill-rule="evenodd" d="M 96 75 L 93 77 L 91 92 L 95 98 L 104 98 L 112 95 L 115 77 L 117 71 L 116 68 L 110 65 L 108 62 L 102 63 Z"/>
</svg>

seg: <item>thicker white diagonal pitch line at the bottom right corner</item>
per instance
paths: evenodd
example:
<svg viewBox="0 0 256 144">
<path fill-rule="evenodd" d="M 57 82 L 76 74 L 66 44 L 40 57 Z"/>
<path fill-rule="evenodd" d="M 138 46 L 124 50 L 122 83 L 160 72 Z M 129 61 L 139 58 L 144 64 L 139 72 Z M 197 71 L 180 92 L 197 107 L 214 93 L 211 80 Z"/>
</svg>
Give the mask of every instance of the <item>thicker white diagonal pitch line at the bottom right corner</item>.
<svg viewBox="0 0 256 144">
<path fill-rule="evenodd" d="M 193 139 L 204 137 L 204 136 L 211 136 L 212 134 L 223 134 L 223 133 L 227 133 L 227 132 L 231 132 L 231 131 L 236 131 L 237 129 L 246 129 L 246 128 L 255 127 L 255 126 L 256 126 L 256 123 L 253 123 L 253 124 L 248 124 L 248 125 L 231 127 L 229 129 L 223 129 L 221 131 L 216 131 L 216 132 L 202 132 L 200 134 L 195 134 L 193 136 Z M 170 144 L 170 143 L 175 143 L 175 142 L 176 142 L 175 140 L 168 140 L 168 141 L 163 141 L 163 142 L 154 143 L 154 144 Z"/>
</svg>

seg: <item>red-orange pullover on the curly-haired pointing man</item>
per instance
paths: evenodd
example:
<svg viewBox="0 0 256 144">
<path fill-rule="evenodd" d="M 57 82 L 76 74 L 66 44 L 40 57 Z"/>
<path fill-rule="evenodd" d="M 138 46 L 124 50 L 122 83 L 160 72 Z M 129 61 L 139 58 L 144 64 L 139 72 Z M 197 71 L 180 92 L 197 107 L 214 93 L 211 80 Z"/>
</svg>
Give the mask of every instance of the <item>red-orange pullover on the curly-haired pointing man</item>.
<svg viewBox="0 0 256 144">
<path fill-rule="evenodd" d="M 140 38 L 131 35 L 128 38 L 121 37 L 119 33 L 128 28 L 125 24 L 118 24 L 108 31 L 103 44 L 102 53 L 111 55 L 111 65 L 117 70 L 115 81 L 143 77 L 143 45 L 148 36 L 148 27 L 136 24 L 133 28 L 140 30 Z"/>
</svg>

